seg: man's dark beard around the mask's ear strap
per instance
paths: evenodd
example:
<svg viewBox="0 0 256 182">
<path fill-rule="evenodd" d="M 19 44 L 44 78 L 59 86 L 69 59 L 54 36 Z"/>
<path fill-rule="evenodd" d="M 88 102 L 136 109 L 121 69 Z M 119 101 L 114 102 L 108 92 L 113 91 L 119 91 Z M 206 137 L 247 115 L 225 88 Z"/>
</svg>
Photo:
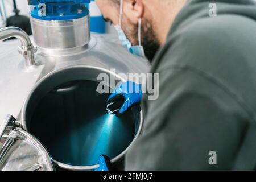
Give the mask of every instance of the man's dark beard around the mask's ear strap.
<svg viewBox="0 0 256 182">
<path fill-rule="evenodd" d="M 153 29 L 152 23 L 145 18 L 143 18 L 141 22 L 141 45 L 144 48 L 144 53 L 148 61 L 152 63 L 156 52 L 160 48 L 160 43 Z M 133 24 L 132 26 L 129 26 L 129 28 L 127 26 L 124 29 L 127 38 L 131 41 L 131 44 L 133 44 L 133 46 L 138 45 L 138 24 Z"/>
</svg>

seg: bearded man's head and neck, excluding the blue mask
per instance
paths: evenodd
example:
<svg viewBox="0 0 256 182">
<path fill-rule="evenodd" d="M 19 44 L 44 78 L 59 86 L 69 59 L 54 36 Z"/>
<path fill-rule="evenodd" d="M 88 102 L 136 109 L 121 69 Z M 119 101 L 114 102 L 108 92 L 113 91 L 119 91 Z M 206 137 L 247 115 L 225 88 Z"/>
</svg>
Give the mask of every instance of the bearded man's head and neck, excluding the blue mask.
<svg viewBox="0 0 256 182">
<path fill-rule="evenodd" d="M 141 44 L 148 60 L 166 42 L 176 15 L 187 0 L 123 0 L 122 30 L 133 46 L 138 45 L 141 19 Z M 119 25 L 120 0 L 96 0 L 106 21 Z"/>
</svg>

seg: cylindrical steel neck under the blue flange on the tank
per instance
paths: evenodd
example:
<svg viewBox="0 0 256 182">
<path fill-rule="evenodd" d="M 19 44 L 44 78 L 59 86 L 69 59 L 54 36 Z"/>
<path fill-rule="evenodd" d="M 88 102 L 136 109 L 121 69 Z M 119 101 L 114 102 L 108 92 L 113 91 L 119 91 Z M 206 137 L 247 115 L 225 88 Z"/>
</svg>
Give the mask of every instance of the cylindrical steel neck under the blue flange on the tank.
<svg viewBox="0 0 256 182">
<path fill-rule="evenodd" d="M 39 20 L 31 17 L 36 45 L 41 52 L 81 49 L 90 42 L 89 15 L 75 20 Z M 86 48 L 86 47 L 85 47 Z M 55 52 L 56 54 L 56 52 Z"/>
</svg>

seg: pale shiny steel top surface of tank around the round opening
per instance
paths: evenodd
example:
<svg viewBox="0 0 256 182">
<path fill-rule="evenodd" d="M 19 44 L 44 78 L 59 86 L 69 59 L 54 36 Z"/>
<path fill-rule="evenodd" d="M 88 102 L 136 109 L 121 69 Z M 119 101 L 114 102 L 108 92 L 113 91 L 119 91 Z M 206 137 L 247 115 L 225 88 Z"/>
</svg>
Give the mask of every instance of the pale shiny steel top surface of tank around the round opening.
<svg viewBox="0 0 256 182">
<path fill-rule="evenodd" d="M 150 69 L 146 60 L 131 55 L 119 44 L 117 38 L 109 37 L 109 35 L 93 34 L 87 49 L 67 53 L 66 55 L 56 56 L 38 53 L 35 55 L 35 65 L 32 67 L 26 67 L 24 59 L 16 52 L 18 44 L 18 40 L 0 42 L 0 122 L 3 121 L 3 117 L 7 113 L 14 115 L 19 120 L 22 106 L 36 82 L 39 82 L 44 76 L 57 69 L 71 68 L 77 65 L 96 67 L 106 72 L 110 72 L 110 69 L 115 69 L 116 74 L 125 74 L 119 76 L 123 80 L 125 80 L 124 76 L 128 76 L 128 73 L 147 73 Z M 63 81 L 68 80 L 69 78 L 66 78 L 66 76 L 63 75 L 61 79 Z M 57 84 L 55 80 L 52 80 L 52 82 Z M 141 128 L 142 125 L 139 125 L 138 130 L 141 130 Z M 135 139 L 137 137 L 135 136 Z M 125 152 L 126 150 L 120 156 L 125 154 Z M 67 166 L 61 163 L 58 165 L 59 167 L 69 169 L 85 168 L 81 166 Z M 96 167 L 97 165 L 90 166 L 89 168 Z"/>
</svg>

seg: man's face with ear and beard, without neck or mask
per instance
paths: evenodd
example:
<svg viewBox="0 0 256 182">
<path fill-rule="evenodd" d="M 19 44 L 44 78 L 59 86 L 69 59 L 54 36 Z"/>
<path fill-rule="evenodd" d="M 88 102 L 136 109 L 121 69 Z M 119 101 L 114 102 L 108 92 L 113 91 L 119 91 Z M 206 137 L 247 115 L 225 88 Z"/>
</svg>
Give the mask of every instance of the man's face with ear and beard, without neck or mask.
<svg viewBox="0 0 256 182">
<path fill-rule="evenodd" d="M 147 0 L 151 1 L 151 0 Z M 107 22 L 119 25 L 120 0 L 96 0 Z M 160 42 L 154 31 L 152 15 L 143 0 L 123 0 L 122 30 L 133 46 L 138 45 L 138 21 L 141 18 L 141 44 L 148 60 L 152 60 Z"/>
</svg>

